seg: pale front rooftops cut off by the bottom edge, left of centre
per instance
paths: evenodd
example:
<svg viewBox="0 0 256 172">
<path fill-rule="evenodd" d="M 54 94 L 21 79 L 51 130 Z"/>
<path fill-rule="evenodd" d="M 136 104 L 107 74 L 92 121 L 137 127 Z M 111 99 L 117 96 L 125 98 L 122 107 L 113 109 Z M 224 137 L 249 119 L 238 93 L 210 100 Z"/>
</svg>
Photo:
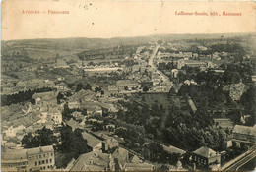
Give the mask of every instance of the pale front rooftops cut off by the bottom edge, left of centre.
<svg viewBox="0 0 256 172">
<path fill-rule="evenodd" d="M 154 165 L 142 162 L 136 155 L 130 157 L 124 148 L 117 148 L 113 153 L 91 151 L 81 154 L 70 162 L 65 171 L 153 171 Z"/>
</svg>

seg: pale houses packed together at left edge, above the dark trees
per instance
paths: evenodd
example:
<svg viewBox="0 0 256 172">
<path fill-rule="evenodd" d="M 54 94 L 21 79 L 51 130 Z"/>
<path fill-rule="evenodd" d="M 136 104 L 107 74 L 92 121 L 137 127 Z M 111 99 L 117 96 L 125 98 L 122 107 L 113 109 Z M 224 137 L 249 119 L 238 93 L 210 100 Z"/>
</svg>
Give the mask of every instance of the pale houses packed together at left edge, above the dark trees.
<svg viewBox="0 0 256 172">
<path fill-rule="evenodd" d="M 57 104 L 56 91 L 34 93 L 35 104 L 1 107 L 1 144 L 8 148 L 21 148 L 23 137 L 42 128 L 54 130 L 62 123 L 63 106 Z"/>
</svg>

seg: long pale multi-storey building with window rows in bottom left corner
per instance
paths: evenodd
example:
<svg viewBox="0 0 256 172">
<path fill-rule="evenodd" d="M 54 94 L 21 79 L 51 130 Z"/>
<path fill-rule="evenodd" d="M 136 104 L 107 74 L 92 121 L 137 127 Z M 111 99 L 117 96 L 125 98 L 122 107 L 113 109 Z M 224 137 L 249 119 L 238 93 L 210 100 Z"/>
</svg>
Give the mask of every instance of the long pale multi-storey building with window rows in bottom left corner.
<svg viewBox="0 0 256 172">
<path fill-rule="evenodd" d="M 2 171 L 50 171 L 55 166 L 52 145 L 29 149 L 8 149 L 1 153 Z"/>
</svg>

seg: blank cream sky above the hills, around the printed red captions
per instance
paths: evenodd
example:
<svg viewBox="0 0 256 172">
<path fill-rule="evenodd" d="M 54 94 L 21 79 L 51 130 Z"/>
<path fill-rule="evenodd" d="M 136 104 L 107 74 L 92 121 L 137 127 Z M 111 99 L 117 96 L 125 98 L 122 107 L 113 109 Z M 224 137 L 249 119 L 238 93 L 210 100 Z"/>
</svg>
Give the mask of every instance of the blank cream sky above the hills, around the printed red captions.
<svg viewBox="0 0 256 172">
<path fill-rule="evenodd" d="M 7 0 L 2 3 L 2 39 L 255 32 L 255 9 L 252 2 L 96 1 L 90 5 L 74 0 Z M 23 10 L 40 14 L 26 15 Z M 69 14 L 51 15 L 48 10 Z M 207 12 L 209 16 L 178 16 L 175 11 Z M 210 16 L 214 11 L 242 16 Z"/>
</svg>

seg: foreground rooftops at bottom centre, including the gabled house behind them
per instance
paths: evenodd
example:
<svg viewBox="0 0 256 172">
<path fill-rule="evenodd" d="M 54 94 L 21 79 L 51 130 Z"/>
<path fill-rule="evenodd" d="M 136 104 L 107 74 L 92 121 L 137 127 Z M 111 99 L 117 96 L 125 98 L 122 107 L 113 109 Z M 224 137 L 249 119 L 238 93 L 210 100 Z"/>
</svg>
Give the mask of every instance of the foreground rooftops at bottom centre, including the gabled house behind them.
<svg viewBox="0 0 256 172">
<path fill-rule="evenodd" d="M 80 128 L 74 121 L 66 125 Z M 109 137 L 103 133 L 83 132 L 91 151 L 72 159 L 63 171 L 153 171 L 154 165 L 144 162 L 128 149 L 119 145 L 118 137 Z"/>
</svg>

